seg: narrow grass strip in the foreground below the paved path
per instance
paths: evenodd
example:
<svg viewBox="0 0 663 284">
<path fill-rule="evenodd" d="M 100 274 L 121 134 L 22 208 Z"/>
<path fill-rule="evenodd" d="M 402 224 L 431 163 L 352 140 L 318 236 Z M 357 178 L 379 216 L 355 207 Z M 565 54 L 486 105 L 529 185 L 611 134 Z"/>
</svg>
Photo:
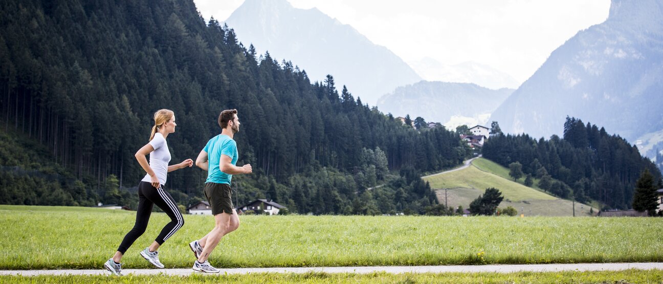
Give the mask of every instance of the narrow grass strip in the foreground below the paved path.
<svg viewBox="0 0 663 284">
<path fill-rule="evenodd" d="M 1 283 L 662 283 L 663 271 L 625 270 L 545 273 L 253 273 L 190 276 L 0 276 Z"/>
</svg>

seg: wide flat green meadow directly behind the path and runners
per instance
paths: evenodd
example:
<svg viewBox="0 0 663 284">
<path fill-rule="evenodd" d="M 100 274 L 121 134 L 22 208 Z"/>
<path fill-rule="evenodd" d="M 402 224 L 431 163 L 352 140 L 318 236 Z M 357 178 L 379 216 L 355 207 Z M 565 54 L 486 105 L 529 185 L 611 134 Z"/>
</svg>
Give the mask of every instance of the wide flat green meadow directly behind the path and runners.
<svg viewBox="0 0 663 284">
<path fill-rule="evenodd" d="M 0 206 L 0 269 L 99 269 L 131 229 L 135 212 Z M 190 267 L 188 243 L 210 216 L 186 215 L 160 249 L 166 267 Z M 150 268 L 139 251 L 168 218 L 150 226 L 123 262 Z M 663 218 L 242 216 L 210 257 L 217 267 L 314 267 L 663 261 Z"/>
</svg>

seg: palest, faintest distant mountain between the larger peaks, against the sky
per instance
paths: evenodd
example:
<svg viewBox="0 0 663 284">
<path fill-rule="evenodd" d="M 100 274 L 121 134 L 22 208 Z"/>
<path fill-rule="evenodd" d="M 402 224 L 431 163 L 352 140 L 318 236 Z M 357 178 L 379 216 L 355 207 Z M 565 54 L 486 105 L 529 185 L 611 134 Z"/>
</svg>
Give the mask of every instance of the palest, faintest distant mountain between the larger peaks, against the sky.
<svg viewBox="0 0 663 284">
<path fill-rule="evenodd" d="M 477 62 L 445 65 L 433 58 L 424 57 L 408 64 L 426 81 L 474 83 L 493 90 L 516 89 L 520 86 L 511 75 Z"/>
</svg>

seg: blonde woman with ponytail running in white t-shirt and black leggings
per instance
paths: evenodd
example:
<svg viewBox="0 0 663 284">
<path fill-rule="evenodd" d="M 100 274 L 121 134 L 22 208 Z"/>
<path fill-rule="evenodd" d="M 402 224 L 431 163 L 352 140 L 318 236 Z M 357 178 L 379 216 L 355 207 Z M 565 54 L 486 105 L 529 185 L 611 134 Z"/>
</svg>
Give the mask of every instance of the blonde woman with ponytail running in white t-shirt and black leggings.
<svg viewBox="0 0 663 284">
<path fill-rule="evenodd" d="M 122 264 L 120 263 L 122 256 L 133 242 L 145 232 L 154 204 L 159 206 L 170 217 L 170 223 L 164 226 L 151 246 L 141 251 L 141 256 L 150 261 L 154 266 L 158 268 L 164 267 L 159 261 L 157 249 L 184 225 L 184 219 L 180 210 L 178 210 L 175 200 L 164 190 L 166 174 L 168 172 L 184 167 L 191 167 L 194 164 L 191 159 L 186 159 L 177 165 L 168 165 L 168 162 L 170 162 L 170 151 L 168 151 L 166 137 L 168 137 L 168 134 L 175 132 L 176 126 L 175 115 L 171 110 L 159 109 L 156 111 L 154 113 L 154 127 L 152 127 L 150 142 L 143 146 L 135 155 L 138 163 L 141 164 L 147 175 L 145 175 L 145 178 L 138 185 L 139 201 L 138 209 L 136 210 L 136 224 L 134 224 L 133 229 L 122 240 L 115 255 L 103 264 L 105 269 L 115 275 L 122 275 Z M 148 154 L 150 154 L 149 164 L 145 158 Z"/>
</svg>

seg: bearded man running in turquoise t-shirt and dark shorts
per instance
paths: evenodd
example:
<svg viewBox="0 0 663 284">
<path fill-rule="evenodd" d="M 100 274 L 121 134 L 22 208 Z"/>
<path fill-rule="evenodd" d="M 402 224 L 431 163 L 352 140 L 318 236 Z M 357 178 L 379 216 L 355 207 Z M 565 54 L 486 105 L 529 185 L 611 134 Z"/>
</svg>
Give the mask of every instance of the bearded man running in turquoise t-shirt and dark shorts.
<svg viewBox="0 0 663 284">
<path fill-rule="evenodd" d="M 192 267 L 195 271 L 217 273 L 219 269 L 210 265 L 208 257 L 216 248 L 221 237 L 237 230 L 239 217 L 233 206 L 230 180 L 233 175 L 250 174 L 251 165 L 237 167 L 237 143 L 233 136 L 239 131 L 237 109 L 226 109 L 219 114 L 221 134 L 208 141 L 196 159 L 196 166 L 208 171 L 205 181 L 205 197 L 210 202 L 211 214 L 214 215 L 214 228 L 200 240 L 189 244 L 196 262 Z"/>
</svg>

